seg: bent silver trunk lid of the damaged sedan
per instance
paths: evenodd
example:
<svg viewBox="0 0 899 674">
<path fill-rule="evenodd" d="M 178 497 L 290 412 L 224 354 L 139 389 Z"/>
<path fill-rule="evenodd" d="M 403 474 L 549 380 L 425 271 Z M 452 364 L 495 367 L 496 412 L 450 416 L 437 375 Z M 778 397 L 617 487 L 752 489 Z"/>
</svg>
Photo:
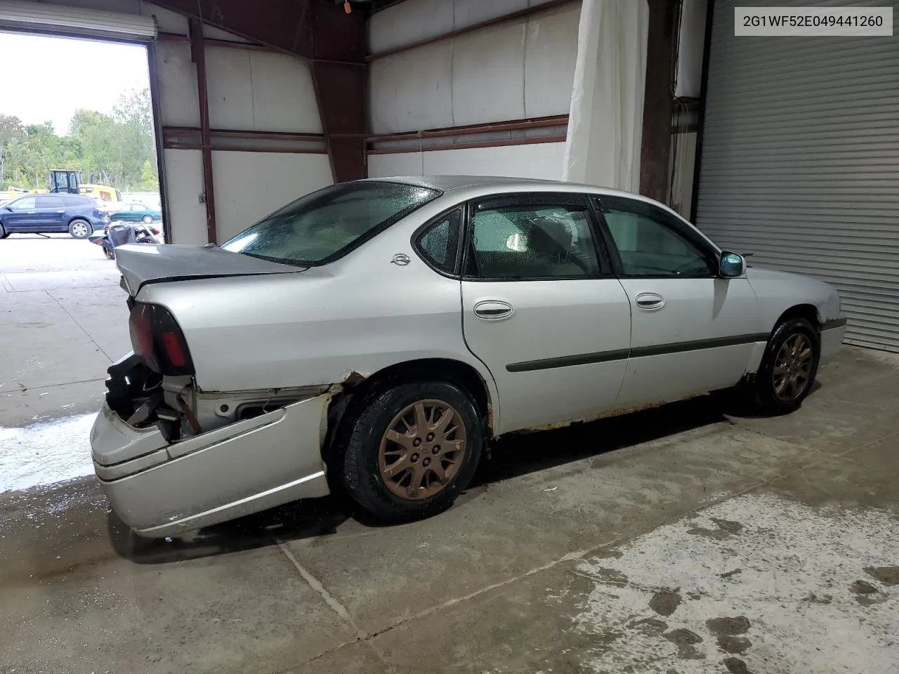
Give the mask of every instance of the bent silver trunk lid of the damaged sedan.
<svg viewBox="0 0 899 674">
<path fill-rule="evenodd" d="M 306 269 L 230 253 L 213 244 L 128 244 L 115 249 L 115 259 L 121 271 L 122 287 L 132 297 L 147 283 L 291 274 Z"/>
</svg>

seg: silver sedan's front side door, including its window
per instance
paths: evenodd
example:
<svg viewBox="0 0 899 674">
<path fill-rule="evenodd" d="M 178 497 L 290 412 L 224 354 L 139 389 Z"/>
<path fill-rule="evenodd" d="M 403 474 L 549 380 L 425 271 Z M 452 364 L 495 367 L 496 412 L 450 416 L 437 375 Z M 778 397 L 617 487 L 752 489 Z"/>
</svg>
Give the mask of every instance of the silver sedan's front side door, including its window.
<svg viewBox="0 0 899 674">
<path fill-rule="evenodd" d="M 619 407 L 734 386 L 752 358 L 758 300 L 745 275 L 720 278 L 719 252 L 669 211 L 643 200 L 595 200 L 631 305 Z"/>
</svg>

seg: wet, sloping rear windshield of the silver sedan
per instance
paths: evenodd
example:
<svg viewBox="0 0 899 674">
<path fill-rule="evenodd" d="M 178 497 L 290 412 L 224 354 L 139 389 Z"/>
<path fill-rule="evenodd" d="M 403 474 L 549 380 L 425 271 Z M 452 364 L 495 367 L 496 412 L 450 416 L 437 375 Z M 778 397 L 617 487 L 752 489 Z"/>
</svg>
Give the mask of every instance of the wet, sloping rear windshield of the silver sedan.
<svg viewBox="0 0 899 674">
<path fill-rule="evenodd" d="M 276 210 L 221 247 L 301 267 L 326 264 L 440 195 L 399 182 L 343 182 Z"/>
</svg>

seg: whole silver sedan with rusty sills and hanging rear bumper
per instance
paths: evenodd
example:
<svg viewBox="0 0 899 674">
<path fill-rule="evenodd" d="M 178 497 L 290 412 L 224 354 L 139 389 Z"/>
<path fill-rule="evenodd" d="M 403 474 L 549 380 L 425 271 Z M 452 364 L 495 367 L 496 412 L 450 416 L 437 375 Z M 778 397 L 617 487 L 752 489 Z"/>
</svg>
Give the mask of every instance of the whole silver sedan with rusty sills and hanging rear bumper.
<svg viewBox="0 0 899 674">
<path fill-rule="evenodd" d="M 335 184 L 218 247 L 116 258 L 134 351 L 109 368 L 93 461 L 150 537 L 335 486 L 423 517 L 498 436 L 719 389 L 790 412 L 846 329 L 831 286 L 563 182 Z"/>
</svg>

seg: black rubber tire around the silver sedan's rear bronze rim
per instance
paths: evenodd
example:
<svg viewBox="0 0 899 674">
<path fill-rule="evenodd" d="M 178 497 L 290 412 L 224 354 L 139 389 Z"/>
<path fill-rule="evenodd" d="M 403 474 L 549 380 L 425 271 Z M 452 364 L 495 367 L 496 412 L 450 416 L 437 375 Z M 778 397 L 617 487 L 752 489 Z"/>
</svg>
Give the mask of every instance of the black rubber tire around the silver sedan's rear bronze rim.
<svg viewBox="0 0 899 674">
<path fill-rule="evenodd" d="M 440 488 L 435 482 L 437 475 L 432 472 L 432 468 L 423 467 L 429 465 L 425 461 L 432 460 L 431 454 L 424 451 L 419 459 L 422 463 L 417 467 L 427 474 L 425 479 L 432 481 L 426 489 L 440 488 L 440 491 L 426 498 L 401 498 L 387 486 L 385 477 L 381 474 L 379 450 L 383 436 L 392 422 L 396 421 L 397 415 L 420 401 L 429 402 L 427 404 L 439 401 L 453 408 L 454 412 L 458 414 L 454 421 L 460 420 L 464 424 L 464 453 L 458 462 L 455 474 L 449 477 L 448 482 Z M 352 422 L 346 451 L 343 455 L 343 485 L 352 500 L 376 519 L 389 523 L 421 519 L 449 508 L 471 482 L 484 448 L 484 425 L 479 420 L 471 396 L 462 388 L 447 382 L 414 382 L 399 384 L 387 391 L 379 392 L 373 395 L 367 403 Z M 436 413 L 432 411 L 432 417 Z M 453 421 L 450 421 L 450 424 L 452 423 Z M 436 453 L 439 448 L 434 447 L 433 450 Z M 407 449 L 407 452 L 414 451 Z M 414 457 L 418 456 L 418 454 L 412 454 L 409 456 L 409 461 L 413 461 Z M 397 459 L 398 462 L 399 459 Z M 454 465 L 449 464 L 449 466 Z M 441 463 L 442 469 L 444 466 Z M 449 468 L 445 469 L 449 472 Z M 414 471 L 414 468 L 410 466 L 409 470 Z M 410 473 L 410 482 L 414 479 L 414 475 L 414 472 Z M 394 488 L 401 489 L 400 486 L 396 486 L 396 483 Z"/>
</svg>

